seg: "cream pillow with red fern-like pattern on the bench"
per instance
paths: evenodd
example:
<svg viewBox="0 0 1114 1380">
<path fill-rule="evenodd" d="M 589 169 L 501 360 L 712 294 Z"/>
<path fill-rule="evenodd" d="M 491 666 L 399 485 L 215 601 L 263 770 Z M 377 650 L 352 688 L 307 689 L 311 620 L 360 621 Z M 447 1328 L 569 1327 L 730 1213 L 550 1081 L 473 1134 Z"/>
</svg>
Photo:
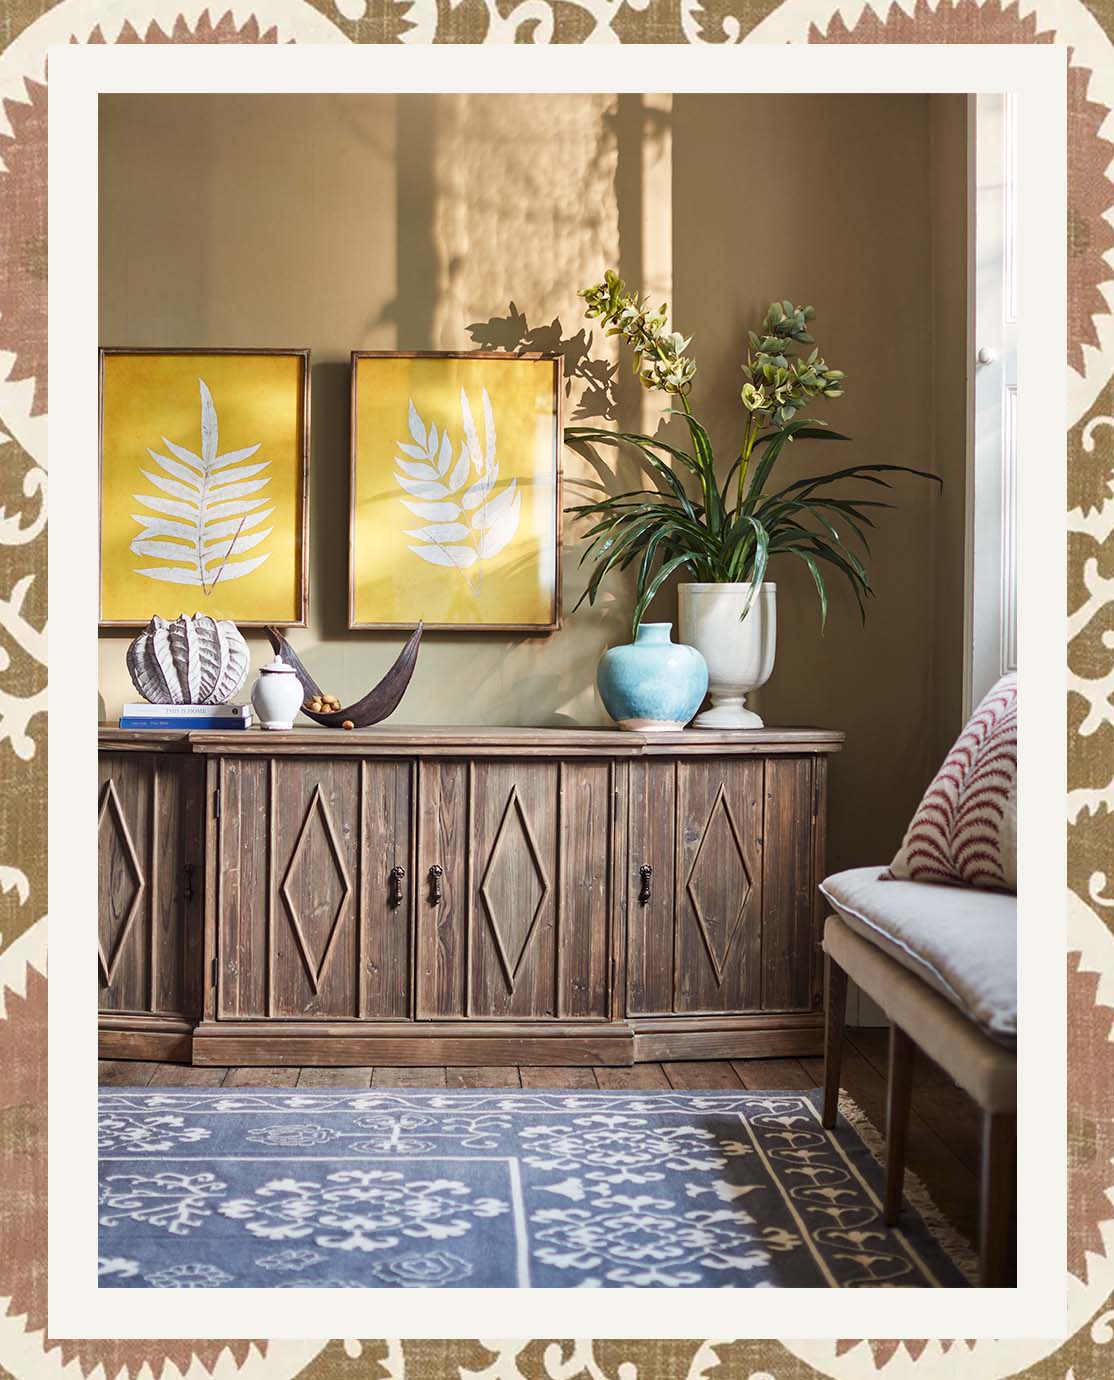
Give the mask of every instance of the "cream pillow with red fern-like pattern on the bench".
<svg viewBox="0 0 1114 1380">
<path fill-rule="evenodd" d="M 1017 890 L 1017 676 L 986 696 L 917 806 L 889 875 Z"/>
</svg>

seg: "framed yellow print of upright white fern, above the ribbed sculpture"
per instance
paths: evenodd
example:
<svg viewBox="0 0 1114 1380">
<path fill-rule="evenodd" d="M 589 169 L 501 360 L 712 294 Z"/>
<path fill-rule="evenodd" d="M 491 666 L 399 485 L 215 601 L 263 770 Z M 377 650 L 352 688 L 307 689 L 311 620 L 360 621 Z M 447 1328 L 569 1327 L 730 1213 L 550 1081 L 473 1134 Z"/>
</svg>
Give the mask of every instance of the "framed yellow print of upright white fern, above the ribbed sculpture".
<svg viewBox="0 0 1114 1380">
<path fill-rule="evenodd" d="M 101 625 L 305 625 L 308 349 L 101 351 Z"/>
</svg>

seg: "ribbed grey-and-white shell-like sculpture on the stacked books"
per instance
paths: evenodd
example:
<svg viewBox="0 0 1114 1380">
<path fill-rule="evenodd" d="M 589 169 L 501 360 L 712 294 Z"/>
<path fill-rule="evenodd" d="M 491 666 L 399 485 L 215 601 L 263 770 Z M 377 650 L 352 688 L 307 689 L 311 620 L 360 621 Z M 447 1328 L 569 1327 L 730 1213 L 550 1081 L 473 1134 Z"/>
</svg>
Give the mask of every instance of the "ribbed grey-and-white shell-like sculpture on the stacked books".
<svg viewBox="0 0 1114 1380">
<path fill-rule="evenodd" d="M 250 660 L 236 624 L 203 613 L 156 615 L 127 649 L 131 683 L 150 704 L 226 704 Z"/>
</svg>

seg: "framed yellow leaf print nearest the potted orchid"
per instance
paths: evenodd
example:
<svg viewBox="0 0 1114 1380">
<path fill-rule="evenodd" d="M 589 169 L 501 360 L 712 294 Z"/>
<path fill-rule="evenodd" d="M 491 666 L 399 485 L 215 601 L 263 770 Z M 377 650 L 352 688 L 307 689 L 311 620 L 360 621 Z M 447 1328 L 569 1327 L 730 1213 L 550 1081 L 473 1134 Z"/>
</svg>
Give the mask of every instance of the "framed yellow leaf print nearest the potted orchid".
<svg viewBox="0 0 1114 1380">
<path fill-rule="evenodd" d="M 562 360 L 352 352 L 349 628 L 560 627 Z"/>
</svg>

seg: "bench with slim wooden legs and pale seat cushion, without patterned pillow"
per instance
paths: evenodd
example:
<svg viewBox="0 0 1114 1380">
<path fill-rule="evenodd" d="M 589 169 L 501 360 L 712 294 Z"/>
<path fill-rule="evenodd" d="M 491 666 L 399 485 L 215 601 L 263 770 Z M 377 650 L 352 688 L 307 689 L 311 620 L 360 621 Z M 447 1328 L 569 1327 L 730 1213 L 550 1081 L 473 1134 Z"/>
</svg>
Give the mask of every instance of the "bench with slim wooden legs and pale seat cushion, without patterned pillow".
<svg viewBox="0 0 1114 1380">
<path fill-rule="evenodd" d="M 1004 891 L 897 880 L 854 868 L 820 890 L 827 1021 L 824 1125 L 835 1126 L 850 977 L 890 1021 L 883 1216 L 896 1224 L 906 1169 L 914 1046 L 983 1114 L 980 1283 L 1016 1278 L 1017 900 Z"/>
</svg>

